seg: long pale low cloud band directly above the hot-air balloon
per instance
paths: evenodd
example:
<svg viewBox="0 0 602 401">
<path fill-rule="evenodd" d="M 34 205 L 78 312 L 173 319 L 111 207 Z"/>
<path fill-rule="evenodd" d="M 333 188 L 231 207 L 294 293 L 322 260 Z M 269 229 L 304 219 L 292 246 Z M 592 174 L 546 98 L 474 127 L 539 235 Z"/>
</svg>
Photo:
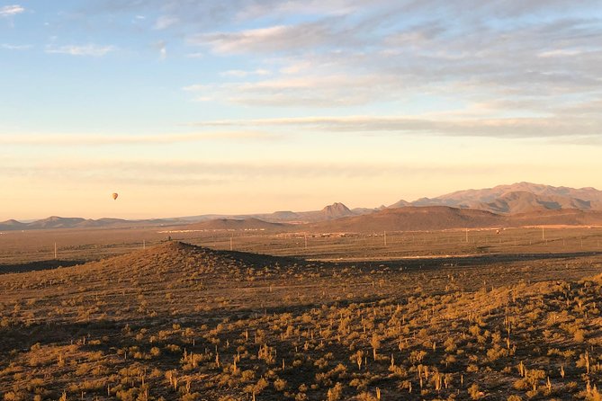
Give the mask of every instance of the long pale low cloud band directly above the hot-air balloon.
<svg viewBox="0 0 602 401">
<path fill-rule="evenodd" d="M 346 163 L 301 160 L 244 160 L 229 161 L 149 161 L 112 159 L 54 159 L 23 166 L 11 164 L 4 168 L 6 175 L 32 174 L 36 178 L 60 176 L 63 179 L 86 181 L 115 181 L 161 186 L 193 186 L 198 183 L 228 185 L 248 183 L 249 180 L 271 179 L 366 179 L 396 177 L 404 174 L 471 174 L 476 169 L 481 174 L 492 172 L 499 166 L 443 165 L 425 163 Z"/>
</svg>

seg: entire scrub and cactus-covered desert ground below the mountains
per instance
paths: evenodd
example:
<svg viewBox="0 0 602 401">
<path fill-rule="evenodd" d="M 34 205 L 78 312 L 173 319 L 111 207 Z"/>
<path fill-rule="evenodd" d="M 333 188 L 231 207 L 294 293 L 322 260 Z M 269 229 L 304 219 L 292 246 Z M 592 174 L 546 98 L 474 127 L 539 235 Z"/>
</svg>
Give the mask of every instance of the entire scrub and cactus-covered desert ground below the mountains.
<svg viewBox="0 0 602 401">
<path fill-rule="evenodd" d="M 6 232 L 0 394 L 599 399 L 600 240 L 599 227 Z"/>
</svg>

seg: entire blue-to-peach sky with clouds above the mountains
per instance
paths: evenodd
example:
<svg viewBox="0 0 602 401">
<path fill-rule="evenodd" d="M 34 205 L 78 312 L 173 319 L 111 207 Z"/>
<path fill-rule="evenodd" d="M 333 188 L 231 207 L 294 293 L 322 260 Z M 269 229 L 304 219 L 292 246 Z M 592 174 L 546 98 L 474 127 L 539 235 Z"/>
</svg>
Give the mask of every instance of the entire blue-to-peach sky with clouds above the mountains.
<svg viewBox="0 0 602 401">
<path fill-rule="evenodd" d="M 599 0 L 0 0 L 0 220 L 602 188 L 601 65 Z"/>
</svg>

